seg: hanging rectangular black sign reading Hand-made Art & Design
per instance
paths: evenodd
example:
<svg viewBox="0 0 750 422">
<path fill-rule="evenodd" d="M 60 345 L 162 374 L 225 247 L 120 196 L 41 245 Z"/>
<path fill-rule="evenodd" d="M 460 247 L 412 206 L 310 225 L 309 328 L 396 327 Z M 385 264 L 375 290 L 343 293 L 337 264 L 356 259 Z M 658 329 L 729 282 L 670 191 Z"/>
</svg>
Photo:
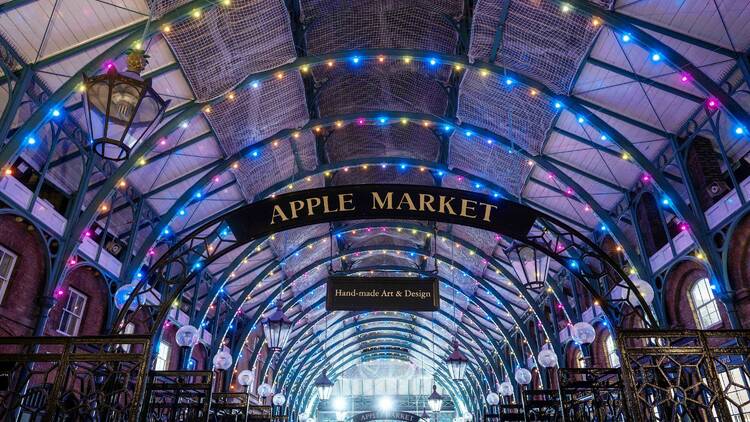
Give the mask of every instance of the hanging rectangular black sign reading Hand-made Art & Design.
<svg viewBox="0 0 750 422">
<path fill-rule="evenodd" d="M 326 284 L 329 311 L 436 311 L 440 307 L 435 277 L 331 276 Z"/>
</svg>

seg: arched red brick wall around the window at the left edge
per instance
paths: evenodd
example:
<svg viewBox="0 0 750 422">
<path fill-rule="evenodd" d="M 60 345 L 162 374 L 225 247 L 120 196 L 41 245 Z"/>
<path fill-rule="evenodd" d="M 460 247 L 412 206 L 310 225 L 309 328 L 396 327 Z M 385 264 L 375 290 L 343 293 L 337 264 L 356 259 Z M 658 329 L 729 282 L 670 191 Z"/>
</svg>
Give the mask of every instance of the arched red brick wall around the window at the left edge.
<svg viewBox="0 0 750 422">
<path fill-rule="evenodd" d="M 0 245 L 17 255 L 5 296 L 0 302 L 0 336 L 25 336 L 39 316 L 45 252 L 34 226 L 12 215 L 0 215 Z"/>
</svg>

